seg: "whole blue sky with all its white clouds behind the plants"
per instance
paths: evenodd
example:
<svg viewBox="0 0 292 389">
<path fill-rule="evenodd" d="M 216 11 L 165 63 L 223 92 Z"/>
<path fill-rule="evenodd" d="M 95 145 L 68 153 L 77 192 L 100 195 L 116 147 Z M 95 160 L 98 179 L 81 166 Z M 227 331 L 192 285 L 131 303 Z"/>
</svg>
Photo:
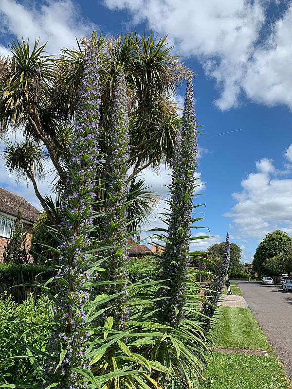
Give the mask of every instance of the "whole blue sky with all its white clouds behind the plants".
<svg viewBox="0 0 292 389">
<path fill-rule="evenodd" d="M 292 236 L 292 1 L 291 0 L 1 0 L 0 53 L 15 36 L 74 45 L 92 29 L 117 35 L 136 29 L 168 35 L 173 53 L 197 74 L 201 134 L 198 177 L 204 225 L 212 237 L 229 231 L 251 262 L 258 242 L 277 228 Z M 178 100 L 184 94 L 178 90 Z M 225 134 L 227 133 L 227 134 Z M 291 146 L 291 147 L 290 147 Z M 49 168 L 49 167 L 48 167 Z M 165 196 L 169 172 L 147 171 Z M 47 178 L 50 181 L 50 177 Z M 40 182 L 42 192 L 48 182 Z M 37 205 L 32 188 L 2 166 L 0 185 Z M 160 201 L 158 209 L 163 206 Z M 152 220 L 152 225 L 157 221 Z M 144 234 L 145 236 L 146 234 Z"/>
</svg>

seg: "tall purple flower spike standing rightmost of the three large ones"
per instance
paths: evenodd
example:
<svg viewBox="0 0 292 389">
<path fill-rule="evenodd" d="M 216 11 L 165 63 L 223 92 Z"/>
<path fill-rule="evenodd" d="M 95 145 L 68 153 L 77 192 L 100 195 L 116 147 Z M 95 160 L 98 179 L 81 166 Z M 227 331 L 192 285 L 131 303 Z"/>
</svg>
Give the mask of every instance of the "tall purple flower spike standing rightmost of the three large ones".
<svg viewBox="0 0 292 389">
<path fill-rule="evenodd" d="M 171 326 L 179 325 L 184 316 L 186 269 L 189 265 L 189 238 L 196 169 L 197 129 L 193 83 L 189 75 L 186 87 L 183 128 L 178 133 L 173 159 L 168 242 L 161 263 L 166 288 L 160 288 L 158 301 L 160 320 Z"/>
</svg>

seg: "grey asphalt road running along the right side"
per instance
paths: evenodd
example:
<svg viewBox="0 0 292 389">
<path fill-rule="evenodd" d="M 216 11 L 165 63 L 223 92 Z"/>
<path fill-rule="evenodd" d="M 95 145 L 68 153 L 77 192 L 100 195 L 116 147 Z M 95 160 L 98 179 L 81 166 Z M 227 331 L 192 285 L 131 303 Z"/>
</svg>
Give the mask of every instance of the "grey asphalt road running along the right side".
<svg viewBox="0 0 292 389">
<path fill-rule="evenodd" d="M 282 286 L 237 281 L 272 348 L 292 379 L 292 292 Z"/>
</svg>

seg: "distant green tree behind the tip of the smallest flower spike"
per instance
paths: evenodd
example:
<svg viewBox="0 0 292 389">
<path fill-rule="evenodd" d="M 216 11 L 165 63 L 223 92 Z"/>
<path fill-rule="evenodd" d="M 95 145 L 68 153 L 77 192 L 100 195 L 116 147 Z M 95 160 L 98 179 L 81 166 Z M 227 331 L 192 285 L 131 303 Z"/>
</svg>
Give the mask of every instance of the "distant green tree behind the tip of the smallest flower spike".
<svg viewBox="0 0 292 389">
<path fill-rule="evenodd" d="M 224 249 L 225 249 L 225 242 L 215 243 L 214 245 L 208 248 L 209 258 L 215 264 L 217 264 L 218 268 L 224 256 Z M 236 243 L 230 243 L 230 263 L 228 269 L 229 276 L 232 276 L 233 274 L 237 274 L 243 271 L 243 264 L 240 262 L 240 258 L 241 258 L 241 248 Z M 207 265 L 207 270 L 214 271 L 213 269 L 210 268 L 210 265 Z"/>
</svg>

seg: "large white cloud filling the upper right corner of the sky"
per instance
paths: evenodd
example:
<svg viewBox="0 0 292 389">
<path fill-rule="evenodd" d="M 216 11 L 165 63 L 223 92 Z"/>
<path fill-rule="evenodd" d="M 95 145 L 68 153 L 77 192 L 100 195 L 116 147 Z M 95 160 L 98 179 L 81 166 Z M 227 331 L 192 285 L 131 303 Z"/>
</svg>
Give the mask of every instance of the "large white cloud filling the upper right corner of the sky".
<svg viewBox="0 0 292 389">
<path fill-rule="evenodd" d="M 277 2 L 276 2 L 277 3 Z M 146 21 L 158 34 L 168 34 L 178 53 L 196 56 L 220 96 L 216 105 L 230 109 L 245 94 L 269 106 L 292 109 L 292 1 L 278 20 L 266 16 L 268 1 L 104 0 L 110 9 L 127 9 L 132 23 Z M 261 37 L 266 23 L 271 33 Z"/>
</svg>

